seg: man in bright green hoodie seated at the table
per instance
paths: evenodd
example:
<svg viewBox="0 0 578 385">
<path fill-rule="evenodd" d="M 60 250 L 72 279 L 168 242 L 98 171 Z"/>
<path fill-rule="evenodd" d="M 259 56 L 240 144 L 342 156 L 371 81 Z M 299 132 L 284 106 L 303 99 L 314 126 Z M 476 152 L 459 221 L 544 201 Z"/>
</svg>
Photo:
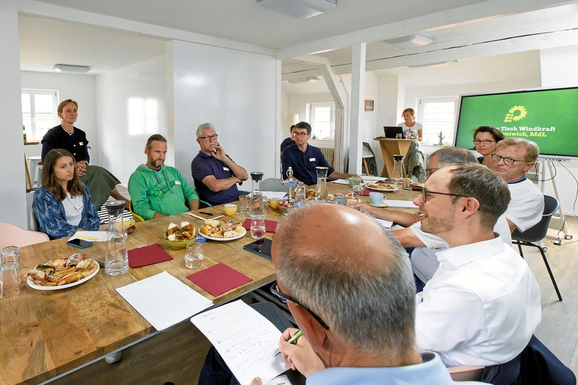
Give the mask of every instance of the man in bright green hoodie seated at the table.
<svg viewBox="0 0 578 385">
<path fill-rule="evenodd" d="M 132 209 L 144 220 L 197 210 L 195 189 L 175 167 L 165 166 L 166 139 L 159 134 L 147 140 L 146 165 L 140 165 L 128 180 Z M 188 207 L 187 204 L 188 203 Z"/>
</svg>

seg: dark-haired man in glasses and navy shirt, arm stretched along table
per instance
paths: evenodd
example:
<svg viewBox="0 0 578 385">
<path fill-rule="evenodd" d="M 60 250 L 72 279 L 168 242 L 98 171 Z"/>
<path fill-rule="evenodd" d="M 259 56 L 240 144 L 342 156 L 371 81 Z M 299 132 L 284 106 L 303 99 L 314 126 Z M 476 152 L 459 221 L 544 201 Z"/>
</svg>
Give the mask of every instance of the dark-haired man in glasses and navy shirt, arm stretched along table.
<svg viewBox="0 0 578 385">
<path fill-rule="evenodd" d="M 299 122 L 295 125 L 291 133 L 295 145 L 283 149 L 281 156 L 281 170 L 282 178 L 287 176 L 287 169 L 292 167 L 293 178 L 301 181 L 306 185 L 317 184 L 317 171 L 315 167 L 327 167 L 327 177 L 330 179 L 346 179 L 349 177 L 357 177 L 357 174 L 346 174 L 335 171 L 333 167 L 327 163 L 323 152 L 317 147 L 307 144 L 311 137 L 311 126 L 307 122 Z"/>
</svg>

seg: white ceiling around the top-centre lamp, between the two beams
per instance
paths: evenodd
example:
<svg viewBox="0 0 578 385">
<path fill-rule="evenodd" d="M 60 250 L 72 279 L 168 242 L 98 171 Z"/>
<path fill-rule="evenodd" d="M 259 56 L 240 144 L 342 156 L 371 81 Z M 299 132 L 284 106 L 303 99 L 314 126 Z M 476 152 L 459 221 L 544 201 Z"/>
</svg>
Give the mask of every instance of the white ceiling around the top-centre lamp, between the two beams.
<svg viewBox="0 0 578 385">
<path fill-rule="evenodd" d="M 262 47 L 283 48 L 486 0 L 339 0 L 334 9 L 304 20 L 262 8 L 257 0 L 40 1 Z"/>
</svg>

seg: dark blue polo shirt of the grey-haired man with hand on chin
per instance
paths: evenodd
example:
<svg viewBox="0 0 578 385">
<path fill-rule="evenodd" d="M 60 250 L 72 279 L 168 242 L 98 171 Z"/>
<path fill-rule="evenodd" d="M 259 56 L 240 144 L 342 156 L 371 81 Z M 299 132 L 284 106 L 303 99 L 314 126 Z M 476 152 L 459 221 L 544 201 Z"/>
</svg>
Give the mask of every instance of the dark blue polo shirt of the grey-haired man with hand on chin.
<svg viewBox="0 0 578 385">
<path fill-rule="evenodd" d="M 227 158 L 231 159 L 229 155 L 227 155 Z M 203 179 L 208 175 L 213 175 L 216 179 L 227 179 L 235 176 L 227 165 L 220 160 L 199 151 L 197 156 L 192 159 L 191 175 L 195 182 L 195 189 L 197 189 L 199 199 L 212 205 L 229 203 L 239 199 L 237 184 L 226 190 L 213 192 L 203 183 Z"/>
</svg>

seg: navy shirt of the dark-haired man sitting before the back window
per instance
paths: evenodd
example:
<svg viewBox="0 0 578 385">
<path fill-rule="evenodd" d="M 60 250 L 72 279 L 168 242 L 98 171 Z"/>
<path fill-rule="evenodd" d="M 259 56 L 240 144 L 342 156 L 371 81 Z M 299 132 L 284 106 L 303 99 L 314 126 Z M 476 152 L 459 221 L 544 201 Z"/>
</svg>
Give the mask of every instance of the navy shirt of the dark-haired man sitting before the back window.
<svg viewBox="0 0 578 385">
<path fill-rule="evenodd" d="M 335 171 L 325 160 L 323 152 L 310 144 L 307 144 L 305 152 L 302 152 L 297 144 L 284 148 L 281 166 L 283 167 L 283 178 L 287 178 L 287 169 L 292 167 L 293 177 L 306 185 L 317 184 L 317 171 L 315 170 L 317 166 L 328 167 L 327 176 Z"/>
</svg>

